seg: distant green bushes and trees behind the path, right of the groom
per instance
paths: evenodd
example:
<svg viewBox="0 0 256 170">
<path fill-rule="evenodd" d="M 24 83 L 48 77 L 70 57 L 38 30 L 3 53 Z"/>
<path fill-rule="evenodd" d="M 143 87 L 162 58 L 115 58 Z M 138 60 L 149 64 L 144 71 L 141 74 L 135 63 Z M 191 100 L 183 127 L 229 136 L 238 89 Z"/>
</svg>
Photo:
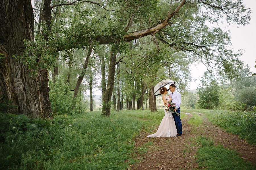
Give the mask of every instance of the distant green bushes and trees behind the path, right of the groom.
<svg viewBox="0 0 256 170">
<path fill-rule="evenodd" d="M 182 106 L 199 109 L 251 110 L 256 107 L 256 76 L 247 70 L 240 80 L 220 84 L 214 76 L 206 74 L 196 92 L 183 95 Z"/>
</svg>

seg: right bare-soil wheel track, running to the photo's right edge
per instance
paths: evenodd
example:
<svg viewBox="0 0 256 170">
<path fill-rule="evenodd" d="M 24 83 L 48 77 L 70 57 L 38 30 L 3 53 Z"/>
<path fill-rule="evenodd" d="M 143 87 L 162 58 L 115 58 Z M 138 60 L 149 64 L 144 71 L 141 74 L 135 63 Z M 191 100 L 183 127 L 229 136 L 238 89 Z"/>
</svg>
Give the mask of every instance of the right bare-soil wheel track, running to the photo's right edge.
<svg viewBox="0 0 256 170">
<path fill-rule="evenodd" d="M 204 129 L 199 132 L 200 134 L 212 138 L 215 142 L 226 148 L 236 150 L 243 159 L 253 164 L 256 163 L 256 146 L 248 144 L 243 139 L 239 139 L 238 135 L 228 133 L 220 127 L 213 125 L 207 118 L 203 119 L 203 126 Z"/>
</svg>

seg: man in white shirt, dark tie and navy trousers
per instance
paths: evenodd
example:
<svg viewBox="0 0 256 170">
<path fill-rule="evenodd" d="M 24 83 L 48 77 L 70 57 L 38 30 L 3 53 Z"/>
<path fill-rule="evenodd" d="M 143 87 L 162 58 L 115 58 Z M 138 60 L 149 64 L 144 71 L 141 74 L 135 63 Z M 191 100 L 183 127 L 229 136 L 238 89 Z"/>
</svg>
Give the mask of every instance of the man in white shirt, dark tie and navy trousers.
<svg viewBox="0 0 256 170">
<path fill-rule="evenodd" d="M 179 92 L 177 92 L 176 86 L 174 84 L 170 85 L 170 91 L 172 92 L 169 94 L 169 96 L 172 97 L 171 102 L 176 104 L 176 108 L 174 109 L 174 111 L 180 113 L 179 106 L 181 105 L 181 94 Z M 182 135 L 182 125 L 181 125 L 180 115 L 177 116 L 176 113 L 172 113 L 172 116 L 174 118 L 175 126 L 177 129 L 177 133 L 178 133 L 177 136 L 181 136 Z"/>
</svg>

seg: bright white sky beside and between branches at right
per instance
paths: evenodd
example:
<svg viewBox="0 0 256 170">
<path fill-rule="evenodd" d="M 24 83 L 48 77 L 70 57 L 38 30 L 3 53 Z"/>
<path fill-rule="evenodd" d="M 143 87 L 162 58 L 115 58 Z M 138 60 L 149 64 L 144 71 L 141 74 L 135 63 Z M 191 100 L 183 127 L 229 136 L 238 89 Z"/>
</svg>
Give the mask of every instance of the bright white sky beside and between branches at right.
<svg viewBox="0 0 256 170">
<path fill-rule="evenodd" d="M 255 50 L 256 50 L 256 0 L 244 0 L 243 3 L 246 5 L 246 8 L 251 8 L 251 21 L 250 24 L 245 25 L 244 27 L 237 28 L 237 26 L 226 27 L 223 25 L 222 29 L 229 29 L 231 35 L 232 47 L 235 50 L 243 49 L 243 55 L 240 57 L 241 61 L 244 61 L 245 65 L 248 64 L 251 67 L 251 71 L 256 73 L 255 66 Z M 200 79 L 203 76 L 203 73 L 207 70 L 203 63 L 196 65 L 191 65 L 190 71 L 192 76 L 192 81 L 189 83 L 188 89 L 196 89 L 200 84 Z M 194 81 L 196 79 L 196 82 Z"/>
</svg>

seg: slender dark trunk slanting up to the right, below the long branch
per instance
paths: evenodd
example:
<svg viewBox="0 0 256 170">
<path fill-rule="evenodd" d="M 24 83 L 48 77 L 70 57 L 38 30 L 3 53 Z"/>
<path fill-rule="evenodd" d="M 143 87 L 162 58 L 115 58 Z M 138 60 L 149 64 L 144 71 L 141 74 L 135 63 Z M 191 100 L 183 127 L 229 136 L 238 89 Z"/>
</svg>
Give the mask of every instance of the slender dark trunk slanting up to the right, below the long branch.
<svg viewBox="0 0 256 170">
<path fill-rule="evenodd" d="M 80 85 L 81 85 L 81 83 L 82 83 L 82 81 L 83 81 L 83 79 L 84 79 L 85 71 L 86 71 L 86 69 L 87 69 L 87 65 L 88 65 L 90 56 L 91 56 L 91 54 L 92 54 L 92 48 L 93 48 L 93 46 L 91 45 L 90 48 L 89 48 L 89 50 L 88 50 L 86 59 L 85 59 L 85 61 L 84 61 L 82 71 L 81 71 L 81 73 L 80 73 L 80 75 L 79 75 L 79 78 L 78 78 L 78 80 L 77 80 L 77 84 L 76 84 L 76 87 L 75 87 L 75 90 L 74 90 L 74 91 L 75 91 L 75 92 L 74 92 L 74 97 L 77 97 L 77 93 L 78 93 L 78 91 L 79 91 Z"/>
</svg>

